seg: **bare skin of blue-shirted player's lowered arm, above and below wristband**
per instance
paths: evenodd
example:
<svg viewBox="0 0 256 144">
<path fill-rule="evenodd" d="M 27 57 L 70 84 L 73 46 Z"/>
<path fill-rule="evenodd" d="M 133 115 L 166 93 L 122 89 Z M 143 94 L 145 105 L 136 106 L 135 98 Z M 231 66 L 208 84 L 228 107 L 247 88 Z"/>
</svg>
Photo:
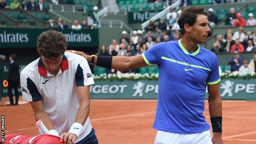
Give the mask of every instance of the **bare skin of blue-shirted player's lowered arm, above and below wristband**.
<svg viewBox="0 0 256 144">
<path fill-rule="evenodd" d="M 208 85 L 208 103 L 210 117 L 222 117 L 222 100 L 219 95 L 219 83 Z M 222 123 L 219 122 L 219 127 Z M 213 133 L 213 144 L 223 144 L 222 133 Z"/>
</svg>

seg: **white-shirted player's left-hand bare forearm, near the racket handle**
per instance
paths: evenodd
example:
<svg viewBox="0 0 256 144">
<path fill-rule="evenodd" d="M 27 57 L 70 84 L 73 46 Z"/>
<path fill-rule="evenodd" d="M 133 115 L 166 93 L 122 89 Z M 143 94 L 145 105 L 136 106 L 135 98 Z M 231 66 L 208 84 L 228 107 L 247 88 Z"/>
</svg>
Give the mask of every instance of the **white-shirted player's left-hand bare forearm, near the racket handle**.
<svg viewBox="0 0 256 144">
<path fill-rule="evenodd" d="M 43 124 L 46 126 L 48 130 L 55 130 L 53 122 L 50 120 L 46 112 L 35 112 L 35 119 L 36 121 L 41 119 L 41 121 L 43 121 Z"/>
</svg>

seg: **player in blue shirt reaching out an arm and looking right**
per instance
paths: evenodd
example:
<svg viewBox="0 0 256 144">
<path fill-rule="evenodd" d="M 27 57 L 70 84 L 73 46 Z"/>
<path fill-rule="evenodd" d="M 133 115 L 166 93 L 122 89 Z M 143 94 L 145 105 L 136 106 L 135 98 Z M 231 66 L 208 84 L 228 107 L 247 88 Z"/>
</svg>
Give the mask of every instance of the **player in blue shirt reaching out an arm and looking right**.
<svg viewBox="0 0 256 144">
<path fill-rule="evenodd" d="M 153 124 L 158 130 L 155 144 L 223 144 L 218 59 L 198 45 L 206 42 L 210 32 L 208 24 L 207 13 L 202 7 L 187 7 L 178 20 L 182 34 L 178 41 L 158 43 L 133 57 L 73 53 L 82 55 L 92 64 L 111 69 L 158 65 L 158 105 Z M 206 86 L 213 138 L 203 116 Z"/>
</svg>

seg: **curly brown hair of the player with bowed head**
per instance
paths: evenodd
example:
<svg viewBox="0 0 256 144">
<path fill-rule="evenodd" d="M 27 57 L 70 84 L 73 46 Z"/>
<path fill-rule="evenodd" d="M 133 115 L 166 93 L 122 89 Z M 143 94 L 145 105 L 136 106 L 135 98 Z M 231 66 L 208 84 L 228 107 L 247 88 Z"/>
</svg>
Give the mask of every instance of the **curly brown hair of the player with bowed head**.
<svg viewBox="0 0 256 144">
<path fill-rule="evenodd" d="M 47 58 L 63 55 L 67 49 L 67 41 L 63 34 L 55 30 L 47 30 L 37 38 L 37 51 Z"/>
</svg>

